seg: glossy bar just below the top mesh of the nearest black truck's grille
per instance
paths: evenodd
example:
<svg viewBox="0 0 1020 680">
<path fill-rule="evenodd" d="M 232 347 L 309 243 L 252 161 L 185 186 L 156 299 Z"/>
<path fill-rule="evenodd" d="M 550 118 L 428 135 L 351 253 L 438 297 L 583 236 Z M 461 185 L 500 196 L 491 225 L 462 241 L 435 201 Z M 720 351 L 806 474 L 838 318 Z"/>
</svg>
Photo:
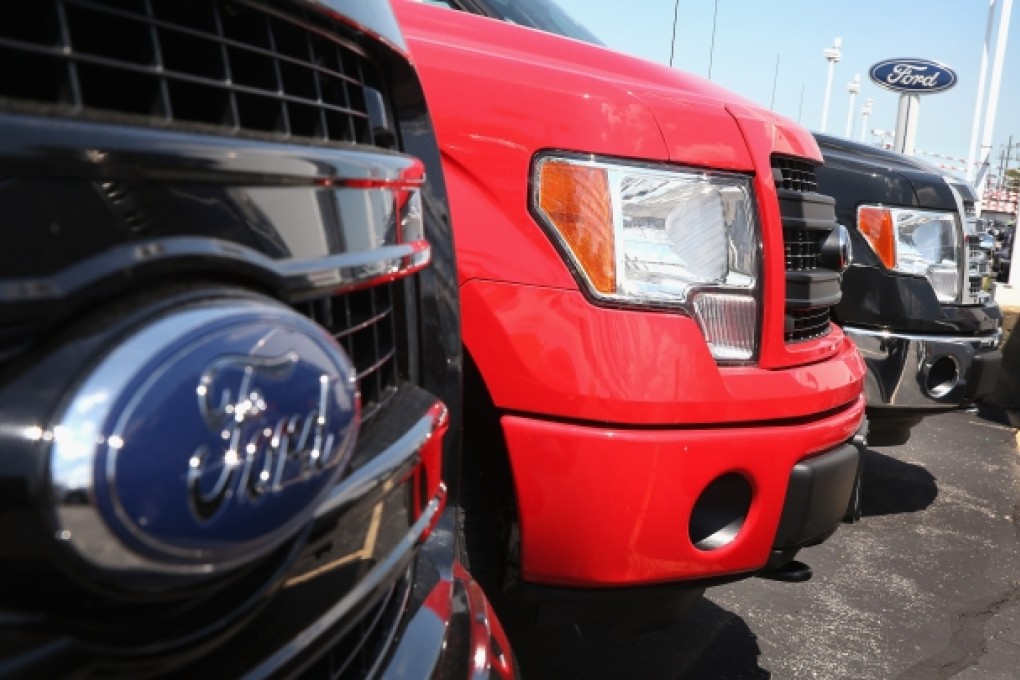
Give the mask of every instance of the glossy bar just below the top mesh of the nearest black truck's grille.
<svg viewBox="0 0 1020 680">
<path fill-rule="evenodd" d="M 376 147 L 223 137 L 224 130 L 217 127 L 185 132 L 111 125 L 105 116 L 65 118 L 59 110 L 52 118 L 42 117 L 31 102 L 8 100 L 4 106 L 0 164 L 19 173 L 244 187 L 393 188 L 403 181 L 412 190 L 420 181 L 420 176 L 408 174 L 420 161 Z"/>
</svg>

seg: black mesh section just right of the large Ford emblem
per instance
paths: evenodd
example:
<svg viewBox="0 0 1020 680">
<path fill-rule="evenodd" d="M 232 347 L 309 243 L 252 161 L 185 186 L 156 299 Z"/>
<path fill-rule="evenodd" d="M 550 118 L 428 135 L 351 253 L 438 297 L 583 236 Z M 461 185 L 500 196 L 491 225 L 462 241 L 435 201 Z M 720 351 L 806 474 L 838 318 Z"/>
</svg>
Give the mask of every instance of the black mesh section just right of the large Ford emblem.
<svg viewBox="0 0 1020 680">
<path fill-rule="evenodd" d="M 397 394 L 394 307 L 399 281 L 303 303 L 298 311 L 333 333 L 358 371 L 361 432 Z"/>
</svg>

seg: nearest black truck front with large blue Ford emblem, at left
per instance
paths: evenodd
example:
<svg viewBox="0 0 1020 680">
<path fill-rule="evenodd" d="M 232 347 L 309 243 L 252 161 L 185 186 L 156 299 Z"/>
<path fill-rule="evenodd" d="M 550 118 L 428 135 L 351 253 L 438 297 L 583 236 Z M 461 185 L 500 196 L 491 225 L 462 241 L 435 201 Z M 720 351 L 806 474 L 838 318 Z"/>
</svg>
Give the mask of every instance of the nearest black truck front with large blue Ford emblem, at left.
<svg viewBox="0 0 1020 680">
<path fill-rule="evenodd" d="M 8 0 L 0 59 L 0 676 L 512 677 L 388 3 Z"/>
</svg>

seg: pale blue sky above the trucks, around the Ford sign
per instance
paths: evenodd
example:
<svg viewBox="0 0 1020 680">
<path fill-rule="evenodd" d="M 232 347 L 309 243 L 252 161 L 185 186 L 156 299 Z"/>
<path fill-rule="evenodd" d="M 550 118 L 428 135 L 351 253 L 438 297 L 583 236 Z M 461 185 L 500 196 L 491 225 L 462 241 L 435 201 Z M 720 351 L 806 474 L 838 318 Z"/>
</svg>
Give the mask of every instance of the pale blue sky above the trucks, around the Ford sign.
<svg viewBox="0 0 1020 680">
<path fill-rule="evenodd" d="M 674 0 L 557 0 L 574 18 L 614 49 L 669 63 Z M 996 9 L 998 15 L 1004 0 Z M 899 95 L 868 77 L 870 67 L 894 57 L 941 61 L 959 81 L 955 88 L 921 98 L 916 149 L 966 158 L 977 97 L 981 49 L 988 17 L 987 0 L 718 0 L 715 47 L 712 49 L 714 0 L 679 0 L 673 65 L 712 81 L 818 130 L 828 63 L 822 50 L 843 38 L 843 58 L 835 64 L 826 132 L 844 135 L 850 109 L 847 85 L 861 74 L 854 104 L 853 138 L 860 139 L 861 107 L 874 100 L 872 128 L 896 128 Z M 996 116 L 991 157 L 1013 136 L 1020 143 L 1020 2 L 1014 2 Z M 989 45 L 988 74 L 993 46 Z M 776 60 L 778 59 L 778 70 Z M 774 94 L 773 94 L 774 82 Z M 987 100 L 988 88 L 985 88 Z M 984 108 L 980 114 L 983 124 Z M 980 145 L 983 133 L 978 136 Z M 1014 151 L 1020 156 L 1020 149 Z M 963 166 L 953 160 L 926 158 Z M 1014 161 L 1012 167 L 1020 162 Z"/>
</svg>

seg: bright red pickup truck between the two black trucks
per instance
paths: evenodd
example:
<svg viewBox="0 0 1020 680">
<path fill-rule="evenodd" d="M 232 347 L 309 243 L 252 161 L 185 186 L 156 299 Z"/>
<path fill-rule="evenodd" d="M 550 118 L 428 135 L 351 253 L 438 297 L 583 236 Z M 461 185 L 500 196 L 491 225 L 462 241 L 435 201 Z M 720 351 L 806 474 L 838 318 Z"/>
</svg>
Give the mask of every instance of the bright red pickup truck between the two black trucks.
<svg viewBox="0 0 1020 680">
<path fill-rule="evenodd" d="M 829 320 L 849 252 L 814 139 L 521 25 L 568 32 L 550 7 L 394 5 L 454 221 L 472 573 L 491 592 L 809 576 L 794 556 L 853 506 L 865 373 Z"/>
</svg>

